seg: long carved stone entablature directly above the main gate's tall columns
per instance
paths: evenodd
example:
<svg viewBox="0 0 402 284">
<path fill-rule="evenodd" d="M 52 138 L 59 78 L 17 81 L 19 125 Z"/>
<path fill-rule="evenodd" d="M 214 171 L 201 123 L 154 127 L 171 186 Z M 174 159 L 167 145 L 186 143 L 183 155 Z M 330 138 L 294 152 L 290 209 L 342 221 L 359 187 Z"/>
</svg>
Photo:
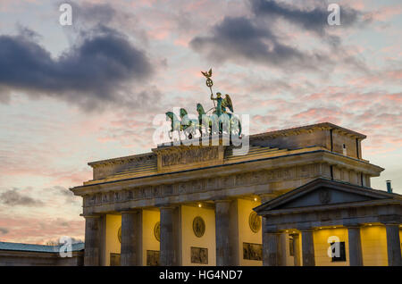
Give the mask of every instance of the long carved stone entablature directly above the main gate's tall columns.
<svg viewBox="0 0 402 284">
<path fill-rule="evenodd" d="M 331 179 L 331 164 L 342 164 L 343 167 L 332 166 L 332 172 L 344 172 L 339 179 L 342 177 L 356 185 L 362 185 L 362 172 L 364 182 L 369 182 L 371 176 L 381 171 L 370 163 L 321 151 L 248 162 L 247 171 L 244 163 L 236 163 L 105 182 L 77 187 L 73 191 L 84 196 L 85 214 L 112 212 L 162 203 L 214 200 L 216 196 L 281 194 L 318 177 Z"/>
</svg>

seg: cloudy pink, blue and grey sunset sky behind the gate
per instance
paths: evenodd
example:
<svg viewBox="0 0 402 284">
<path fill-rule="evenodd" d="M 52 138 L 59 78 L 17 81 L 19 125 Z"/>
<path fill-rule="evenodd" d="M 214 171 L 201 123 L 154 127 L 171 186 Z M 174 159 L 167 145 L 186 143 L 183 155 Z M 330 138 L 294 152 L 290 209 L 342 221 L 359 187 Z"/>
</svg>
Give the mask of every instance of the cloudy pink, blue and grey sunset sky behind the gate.
<svg viewBox="0 0 402 284">
<path fill-rule="evenodd" d="M 61 4 L 72 24 L 61 25 Z M 367 135 L 402 194 L 398 0 L 1 0 L 0 241 L 84 239 L 88 162 L 149 152 L 157 114 L 211 104 L 200 71 L 250 134 L 322 121 Z"/>
</svg>

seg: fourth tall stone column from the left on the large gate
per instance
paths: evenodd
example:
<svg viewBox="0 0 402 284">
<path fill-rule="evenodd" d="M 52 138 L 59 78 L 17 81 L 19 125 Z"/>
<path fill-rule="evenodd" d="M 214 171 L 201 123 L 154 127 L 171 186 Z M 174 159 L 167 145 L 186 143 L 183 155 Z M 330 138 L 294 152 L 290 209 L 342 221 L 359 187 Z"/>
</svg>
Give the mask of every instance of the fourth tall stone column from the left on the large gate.
<svg viewBox="0 0 402 284">
<path fill-rule="evenodd" d="M 215 201 L 216 266 L 239 265 L 237 214 L 230 214 L 236 201 Z"/>
</svg>

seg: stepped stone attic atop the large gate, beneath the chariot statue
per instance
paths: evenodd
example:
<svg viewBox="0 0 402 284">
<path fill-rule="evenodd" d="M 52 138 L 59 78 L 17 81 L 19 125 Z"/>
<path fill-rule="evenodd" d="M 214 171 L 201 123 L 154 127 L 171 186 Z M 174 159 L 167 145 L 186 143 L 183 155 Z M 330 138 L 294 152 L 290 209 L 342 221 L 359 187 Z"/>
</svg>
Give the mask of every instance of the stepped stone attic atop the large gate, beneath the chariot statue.
<svg viewBox="0 0 402 284">
<path fill-rule="evenodd" d="M 294 129 L 251 135 L 249 143 L 250 150 L 255 147 L 271 148 L 269 155 L 279 154 L 288 150 L 295 151 L 297 149 L 320 147 L 340 155 L 363 160 L 361 141 L 364 138 L 363 134 L 324 122 Z M 230 159 L 226 159 L 225 155 L 230 152 L 231 146 L 222 146 L 222 143 L 220 145 L 158 146 L 152 150 L 152 153 L 88 163 L 93 168 L 94 175 L 93 180 L 89 180 L 85 184 L 93 183 L 92 181 L 110 180 L 111 178 L 113 180 L 113 176 L 117 176 L 117 180 L 119 180 L 128 176 L 147 176 L 159 172 L 180 171 L 201 168 L 205 165 L 230 163 Z M 261 156 L 266 156 L 267 152 L 265 151 Z M 243 155 L 237 157 L 237 160 L 239 159 L 243 161 L 254 160 L 255 155 Z"/>
</svg>

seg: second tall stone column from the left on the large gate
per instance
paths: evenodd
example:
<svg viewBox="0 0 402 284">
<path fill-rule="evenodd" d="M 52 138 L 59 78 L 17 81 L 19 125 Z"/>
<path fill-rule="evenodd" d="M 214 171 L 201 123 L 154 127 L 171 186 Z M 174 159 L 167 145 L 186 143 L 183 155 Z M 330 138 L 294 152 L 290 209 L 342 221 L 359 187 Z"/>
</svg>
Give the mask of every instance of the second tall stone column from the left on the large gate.
<svg viewBox="0 0 402 284">
<path fill-rule="evenodd" d="M 142 264 L 142 210 L 121 212 L 121 266 Z"/>
</svg>

